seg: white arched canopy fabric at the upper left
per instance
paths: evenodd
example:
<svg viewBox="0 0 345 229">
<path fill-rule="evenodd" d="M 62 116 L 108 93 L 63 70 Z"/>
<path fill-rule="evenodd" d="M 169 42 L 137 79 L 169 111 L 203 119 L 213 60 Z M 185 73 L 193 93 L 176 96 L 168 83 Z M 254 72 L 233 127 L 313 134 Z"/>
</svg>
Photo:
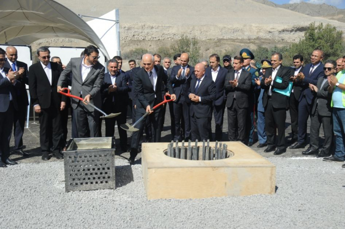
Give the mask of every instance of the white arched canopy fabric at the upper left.
<svg viewBox="0 0 345 229">
<path fill-rule="evenodd" d="M 66 37 L 90 42 L 109 59 L 93 29 L 54 0 L 1 0 L 0 43 L 30 45 L 43 38 Z"/>
</svg>

